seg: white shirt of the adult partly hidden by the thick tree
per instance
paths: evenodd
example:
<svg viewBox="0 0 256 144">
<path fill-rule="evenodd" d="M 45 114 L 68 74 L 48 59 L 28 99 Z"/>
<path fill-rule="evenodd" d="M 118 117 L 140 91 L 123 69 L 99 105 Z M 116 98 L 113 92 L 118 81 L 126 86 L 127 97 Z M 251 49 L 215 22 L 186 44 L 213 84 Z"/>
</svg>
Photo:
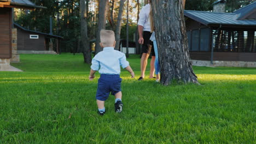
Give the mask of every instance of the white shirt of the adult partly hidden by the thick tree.
<svg viewBox="0 0 256 144">
<path fill-rule="evenodd" d="M 148 31 L 150 32 L 150 4 L 145 5 L 142 9 L 141 12 L 139 12 L 139 20 L 138 20 L 138 25 L 143 26 L 143 31 Z"/>
</svg>

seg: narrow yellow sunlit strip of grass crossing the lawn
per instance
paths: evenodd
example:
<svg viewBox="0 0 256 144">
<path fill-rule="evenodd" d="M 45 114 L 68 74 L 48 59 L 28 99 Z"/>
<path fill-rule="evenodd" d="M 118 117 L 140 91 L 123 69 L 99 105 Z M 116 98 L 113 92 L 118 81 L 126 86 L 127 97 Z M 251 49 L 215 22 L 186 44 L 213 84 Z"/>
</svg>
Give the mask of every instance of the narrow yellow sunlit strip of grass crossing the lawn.
<svg viewBox="0 0 256 144">
<path fill-rule="evenodd" d="M 33 83 L 33 82 L 97 82 L 98 78 L 100 77 L 99 74 L 96 74 L 94 80 L 89 81 L 88 75 L 38 75 L 38 76 L 22 76 L 21 77 L 3 77 L 0 80 L 0 83 Z M 256 80 L 256 75 L 227 75 L 227 74 L 198 74 L 197 75 L 199 81 L 247 81 L 247 80 Z M 137 81 L 137 77 L 134 79 L 131 78 L 129 74 L 121 75 L 123 81 L 127 83 L 139 82 Z M 144 81 L 152 81 L 154 82 L 155 79 L 148 79 L 145 78 Z"/>
</svg>

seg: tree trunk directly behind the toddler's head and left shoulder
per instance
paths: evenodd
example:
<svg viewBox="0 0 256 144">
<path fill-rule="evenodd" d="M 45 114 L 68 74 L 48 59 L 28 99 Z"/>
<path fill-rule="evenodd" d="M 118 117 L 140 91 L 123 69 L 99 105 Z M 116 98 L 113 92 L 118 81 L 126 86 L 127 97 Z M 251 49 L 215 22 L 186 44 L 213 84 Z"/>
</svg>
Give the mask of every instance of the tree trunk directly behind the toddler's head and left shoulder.
<svg viewBox="0 0 256 144">
<path fill-rule="evenodd" d="M 106 28 L 106 15 L 107 15 L 107 7 L 108 7 L 108 0 L 100 0 L 99 1 L 99 8 L 98 8 L 98 30 L 96 35 L 96 46 L 95 46 L 95 55 L 102 51 L 103 48 L 100 46 L 100 32 L 101 29 Z"/>
</svg>

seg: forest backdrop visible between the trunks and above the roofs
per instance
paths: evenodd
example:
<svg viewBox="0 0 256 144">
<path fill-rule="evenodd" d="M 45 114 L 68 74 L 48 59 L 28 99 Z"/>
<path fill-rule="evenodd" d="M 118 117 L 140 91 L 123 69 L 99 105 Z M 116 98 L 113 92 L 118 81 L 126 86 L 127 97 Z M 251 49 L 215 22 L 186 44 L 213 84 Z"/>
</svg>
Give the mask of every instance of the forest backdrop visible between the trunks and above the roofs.
<svg viewBox="0 0 256 144">
<path fill-rule="evenodd" d="M 43 33 L 50 32 L 50 16 L 53 17 L 53 34 L 63 37 L 61 40 L 61 52 L 82 52 L 80 42 L 80 8 L 79 0 L 31 0 L 36 5 L 42 5 L 47 9 L 14 10 L 14 21 L 19 25 Z M 98 27 L 99 0 L 83 0 L 88 7 L 88 39 L 95 40 Z M 216 0 L 187 0 L 185 10 L 212 11 L 213 2 Z M 244 7 L 255 0 L 227 0 L 226 13 Z M 147 0 L 129 0 L 129 41 L 137 41 L 137 20 L 139 10 L 147 4 Z M 118 19 L 120 1 L 109 0 L 107 4 L 106 29 L 115 29 Z M 121 21 L 120 39 L 126 39 L 127 25 L 127 1 L 123 9 Z M 56 43 L 56 41 L 53 41 Z M 56 47 L 54 47 L 54 50 Z"/>
</svg>

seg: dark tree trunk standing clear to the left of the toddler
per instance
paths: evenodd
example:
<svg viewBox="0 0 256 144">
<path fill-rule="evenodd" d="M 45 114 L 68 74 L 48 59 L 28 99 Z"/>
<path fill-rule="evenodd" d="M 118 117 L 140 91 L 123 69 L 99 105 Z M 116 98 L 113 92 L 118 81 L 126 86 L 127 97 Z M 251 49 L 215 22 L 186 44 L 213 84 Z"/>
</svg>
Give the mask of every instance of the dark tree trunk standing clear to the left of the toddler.
<svg viewBox="0 0 256 144">
<path fill-rule="evenodd" d="M 88 4 L 88 2 L 86 2 L 86 4 Z M 91 49 L 87 35 L 87 10 L 88 9 L 85 5 L 85 0 L 80 0 L 81 42 L 83 46 L 84 62 L 91 63 Z"/>
</svg>

